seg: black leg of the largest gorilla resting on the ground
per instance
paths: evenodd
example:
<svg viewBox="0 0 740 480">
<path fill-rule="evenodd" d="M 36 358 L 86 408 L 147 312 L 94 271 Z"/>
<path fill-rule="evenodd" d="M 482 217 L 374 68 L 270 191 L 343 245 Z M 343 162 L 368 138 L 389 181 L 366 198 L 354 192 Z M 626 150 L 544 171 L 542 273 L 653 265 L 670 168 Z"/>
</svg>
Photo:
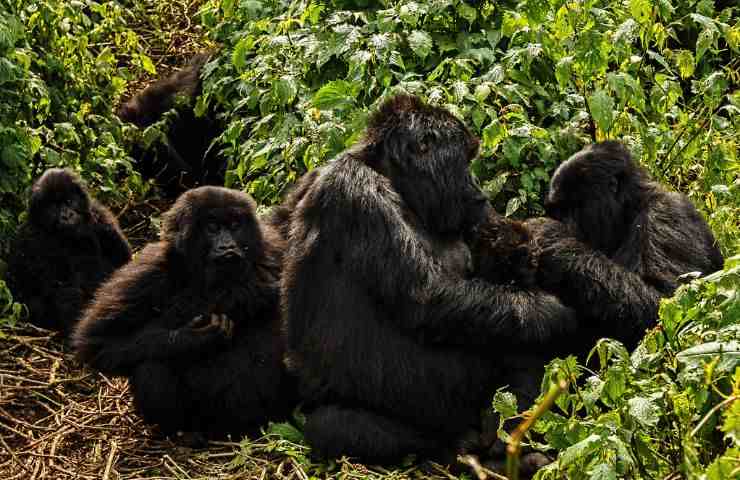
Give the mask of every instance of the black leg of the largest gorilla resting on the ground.
<svg viewBox="0 0 740 480">
<path fill-rule="evenodd" d="M 443 448 L 434 434 L 368 410 L 339 405 L 321 406 L 312 412 L 305 435 L 314 452 L 327 458 L 348 455 L 386 462 L 409 452 L 428 455 Z"/>
</svg>

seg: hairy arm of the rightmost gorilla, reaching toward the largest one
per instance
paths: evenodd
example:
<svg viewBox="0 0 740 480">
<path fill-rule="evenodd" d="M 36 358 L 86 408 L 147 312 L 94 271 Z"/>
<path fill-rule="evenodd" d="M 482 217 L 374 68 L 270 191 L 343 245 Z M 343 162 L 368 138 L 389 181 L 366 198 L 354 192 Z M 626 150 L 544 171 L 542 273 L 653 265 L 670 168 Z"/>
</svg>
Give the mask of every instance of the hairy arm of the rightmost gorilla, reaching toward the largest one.
<svg viewBox="0 0 740 480">
<path fill-rule="evenodd" d="M 640 275 L 570 235 L 551 219 L 527 222 L 540 245 L 538 283 L 622 341 L 654 325 L 661 293 Z M 633 245 L 639 249 L 638 245 Z"/>
</svg>

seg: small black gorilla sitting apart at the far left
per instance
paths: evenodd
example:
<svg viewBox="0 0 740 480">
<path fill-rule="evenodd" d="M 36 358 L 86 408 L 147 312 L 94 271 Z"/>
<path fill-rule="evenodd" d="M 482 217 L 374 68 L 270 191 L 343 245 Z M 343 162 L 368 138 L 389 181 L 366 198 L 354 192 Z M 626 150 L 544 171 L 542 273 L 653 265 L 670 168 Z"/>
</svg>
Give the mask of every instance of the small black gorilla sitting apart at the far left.
<svg viewBox="0 0 740 480">
<path fill-rule="evenodd" d="M 61 168 L 34 183 L 28 221 L 11 248 L 10 287 L 28 306 L 30 321 L 65 333 L 98 285 L 131 258 L 113 214 Z"/>
</svg>

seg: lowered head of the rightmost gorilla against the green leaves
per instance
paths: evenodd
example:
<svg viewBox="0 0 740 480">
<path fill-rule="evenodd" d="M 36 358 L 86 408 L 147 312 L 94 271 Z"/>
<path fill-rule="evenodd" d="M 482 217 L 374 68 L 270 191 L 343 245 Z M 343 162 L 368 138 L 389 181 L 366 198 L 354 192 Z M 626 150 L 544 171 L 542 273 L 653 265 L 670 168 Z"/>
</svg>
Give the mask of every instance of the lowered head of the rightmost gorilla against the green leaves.
<svg viewBox="0 0 740 480">
<path fill-rule="evenodd" d="M 574 228 L 580 240 L 610 255 L 638 214 L 648 182 L 621 143 L 593 144 L 555 171 L 545 210 Z"/>
</svg>

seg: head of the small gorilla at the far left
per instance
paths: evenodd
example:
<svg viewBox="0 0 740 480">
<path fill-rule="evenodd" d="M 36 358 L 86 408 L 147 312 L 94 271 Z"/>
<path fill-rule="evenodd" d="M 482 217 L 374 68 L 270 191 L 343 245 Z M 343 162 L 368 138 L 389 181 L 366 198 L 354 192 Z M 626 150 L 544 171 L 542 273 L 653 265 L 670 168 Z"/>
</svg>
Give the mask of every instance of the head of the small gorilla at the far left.
<svg viewBox="0 0 740 480">
<path fill-rule="evenodd" d="M 47 232 L 79 231 L 91 220 L 90 197 L 71 170 L 51 168 L 33 184 L 29 205 L 32 224 Z"/>
</svg>

